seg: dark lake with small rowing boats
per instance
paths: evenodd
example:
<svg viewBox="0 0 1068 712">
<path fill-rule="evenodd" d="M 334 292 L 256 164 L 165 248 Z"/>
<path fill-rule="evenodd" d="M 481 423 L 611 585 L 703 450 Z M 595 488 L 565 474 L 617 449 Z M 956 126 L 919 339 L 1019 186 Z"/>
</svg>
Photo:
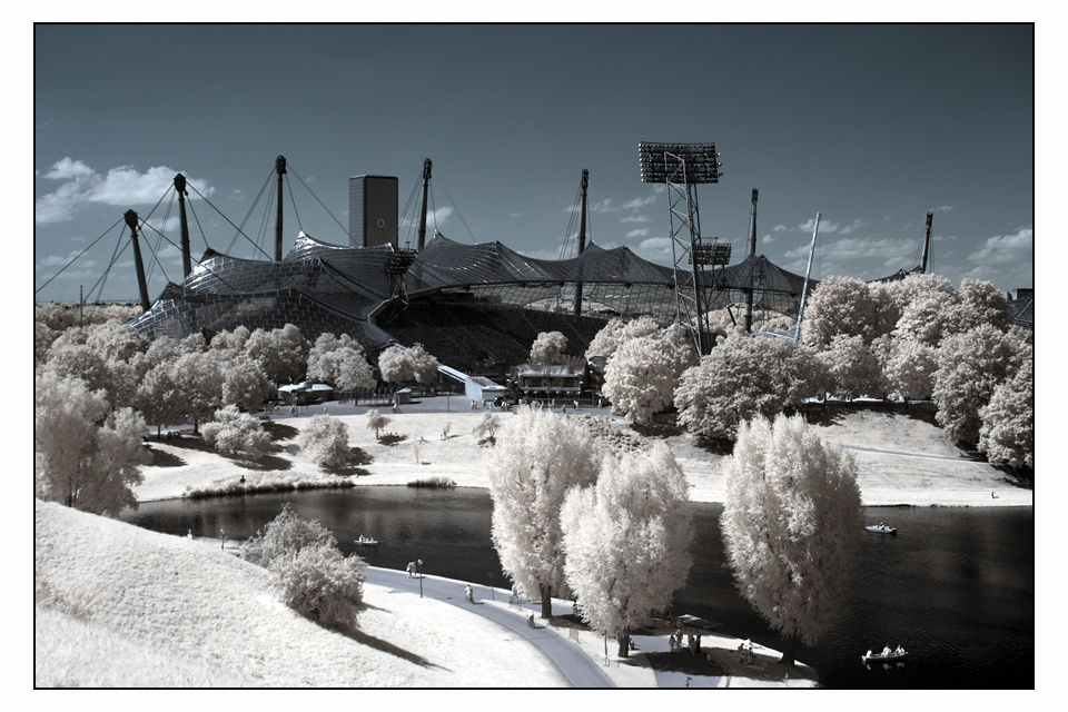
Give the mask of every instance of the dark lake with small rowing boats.
<svg viewBox="0 0 1068 712">
<path fill-rule="evenodd" d="M 340 548 L 373 566 L 511 586 L 490 540 L 493 505 L 478 488 L 355 487 L 170 500 L 127 511 L 125 522 L 168 534 L 247 538 L 285 503 L 334 532 Z M 736 593 L 719 531 L 720 504 L 694 503 L 693 568 L 673 612 L 720 623 L 718 632 L 782 649 Z M 1031 689 L 1035 686 L 1032 507 L 867 507 L 852 593 L 841 619 L 798 660 L 839 689 Z M 377 547 L 353 543 L 374 536 Z M 909 661 L 868 670 L 861 654 L 902 645 Z"/>
</svg>

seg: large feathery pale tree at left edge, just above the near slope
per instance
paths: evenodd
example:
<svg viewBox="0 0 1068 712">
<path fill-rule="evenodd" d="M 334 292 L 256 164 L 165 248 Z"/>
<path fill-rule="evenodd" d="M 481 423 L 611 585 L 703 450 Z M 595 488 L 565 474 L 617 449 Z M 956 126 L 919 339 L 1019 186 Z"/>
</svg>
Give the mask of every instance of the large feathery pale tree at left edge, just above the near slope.
<svg viewBox="0 0 1068 712">
<path fill-rule="evenodd" d="M 90 392 L 80 378 L 44 373 L 33 385 L 36 496 L 108 516 L 136 507 L 131 487 L 150 462 L 141 415 L 132 408 L 109 413 L 103 393 Z"/>
</svg>

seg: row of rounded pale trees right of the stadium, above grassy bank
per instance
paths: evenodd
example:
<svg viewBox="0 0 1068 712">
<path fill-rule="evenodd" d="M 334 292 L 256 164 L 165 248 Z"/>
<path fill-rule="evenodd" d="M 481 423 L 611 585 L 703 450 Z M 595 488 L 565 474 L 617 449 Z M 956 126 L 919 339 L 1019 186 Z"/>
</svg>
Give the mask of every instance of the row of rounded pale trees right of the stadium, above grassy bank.
<svg viewBox="0 0 1068 712">
<path fill-rule="evenodd" d="M 715 318 L 715 317 L 714 317 Z M 1034 466 L 1034 334 L 1011 324 L 992 285 L 937 275 L 868 284 L 828 277 L 805 306 L 803 343 L 731 329 L 696 355 L 681 327 L 611 322 L 586 357 L 606 362 L 603 393 L 634 423 L 675 407 L 706 437 L 807 399 L 932 399 L 953 441 L 995 463 Z"/>
</svg>

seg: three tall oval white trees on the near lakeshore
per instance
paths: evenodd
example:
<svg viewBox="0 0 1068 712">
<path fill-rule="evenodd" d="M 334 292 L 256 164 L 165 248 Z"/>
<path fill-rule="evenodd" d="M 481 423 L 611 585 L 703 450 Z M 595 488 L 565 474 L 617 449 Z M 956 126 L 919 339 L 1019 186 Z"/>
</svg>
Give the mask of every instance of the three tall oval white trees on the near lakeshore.
<svg viewBox="0 0 1068 712">
<path fill-rule="evenodd" d="M 862 532 L 853 459 L 800 416 L 739 427 L 721 520 L 741 594 L 779 631 L 783 662 L 814 644 L 844 603 Z M 492 536 L 501 564 L 542 616 L 553 596 L 616 637 L 670 609 L 690 574 L 689 486 L 662 444 L 614 452 L 558 415 L 521 408 L 488 459 Z"/>
</svg>

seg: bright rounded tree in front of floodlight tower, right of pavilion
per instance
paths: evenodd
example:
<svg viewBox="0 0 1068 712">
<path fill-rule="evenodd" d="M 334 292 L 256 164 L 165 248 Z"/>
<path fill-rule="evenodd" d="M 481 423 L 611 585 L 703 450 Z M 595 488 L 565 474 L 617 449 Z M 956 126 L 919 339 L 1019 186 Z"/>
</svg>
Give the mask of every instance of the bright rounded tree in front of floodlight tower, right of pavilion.
<svg viewBox="0 0 1068 712">
<path fill-rule="evenodd" d="M 678 324 L 634 337 L 627 337 L 624 328 L 604 370 L 602 392 L 612 402 L 613 414 L 626 416 L 630 423 L 649 423 L 655 413 L 671 407 L 679 377 L 696 363 L 696 353 Z"/>
</svg>

